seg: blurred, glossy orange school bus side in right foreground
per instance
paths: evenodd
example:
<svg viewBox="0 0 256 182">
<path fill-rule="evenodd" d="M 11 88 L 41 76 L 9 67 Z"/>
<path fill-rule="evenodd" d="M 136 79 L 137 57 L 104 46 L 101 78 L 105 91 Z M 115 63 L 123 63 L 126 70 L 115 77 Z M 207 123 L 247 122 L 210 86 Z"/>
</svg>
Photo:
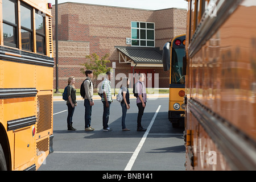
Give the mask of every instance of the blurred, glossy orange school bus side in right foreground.
<svg viewBox="0 0 256 182">
<path fill-rule="evenodd" d="M 256 169 L 255 16 L 255 1 L 188 0 L 187 170 Z"/>
</svg>

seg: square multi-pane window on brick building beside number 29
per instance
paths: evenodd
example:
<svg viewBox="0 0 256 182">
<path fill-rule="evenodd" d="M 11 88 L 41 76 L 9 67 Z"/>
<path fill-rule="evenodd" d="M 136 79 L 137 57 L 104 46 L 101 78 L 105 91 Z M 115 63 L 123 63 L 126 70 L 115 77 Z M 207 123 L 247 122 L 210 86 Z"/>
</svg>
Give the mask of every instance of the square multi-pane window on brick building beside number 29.
<svg viewBox="0 0 256 182">
<path fill-rule="evenodd" d="M 155 24 L 131 22 L 131 46 L 155 47 Z"/>
</svg>

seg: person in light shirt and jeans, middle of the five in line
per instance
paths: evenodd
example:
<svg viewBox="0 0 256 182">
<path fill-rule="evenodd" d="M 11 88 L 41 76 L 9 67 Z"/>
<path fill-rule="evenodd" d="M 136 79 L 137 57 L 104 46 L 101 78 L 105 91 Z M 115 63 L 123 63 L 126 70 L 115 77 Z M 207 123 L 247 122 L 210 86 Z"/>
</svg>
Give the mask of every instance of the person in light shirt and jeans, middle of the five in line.
<svg viewBox="0 0 256 182">
<path fill-rule="evenodd" d="M 101 90 L 103 91 L 103 96 L 101 98 L 101 101 L 103 103 L 103 131 L 112 131 L 110 129 L 108 123 L 109 123 L 109 114 L 110 114 L 110 105 L 112 104 L 112 93 L 111 93 L 111 82 L 110 79 L 112 77 L 112 72 L 108 71 L 106 72 L 106 77 L 103 80 L 101 84 Z"/>
</svg>

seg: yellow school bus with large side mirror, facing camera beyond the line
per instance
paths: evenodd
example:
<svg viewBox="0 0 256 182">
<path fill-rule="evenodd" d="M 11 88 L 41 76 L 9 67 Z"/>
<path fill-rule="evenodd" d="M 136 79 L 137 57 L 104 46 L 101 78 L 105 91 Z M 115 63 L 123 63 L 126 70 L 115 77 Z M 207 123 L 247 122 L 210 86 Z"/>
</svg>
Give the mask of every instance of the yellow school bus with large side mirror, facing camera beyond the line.
<svg viewBox="0 0 256 182">
<path fill-rule="evenodd" d="M 163 68 L 170 70 L 170 92 L 168 119 L 173 127 L 183 126 L 185 115 L 185 77 L 183 57 L 185 56 L 185 34 L 176 36 L 163 47 Z"/>
</svg>

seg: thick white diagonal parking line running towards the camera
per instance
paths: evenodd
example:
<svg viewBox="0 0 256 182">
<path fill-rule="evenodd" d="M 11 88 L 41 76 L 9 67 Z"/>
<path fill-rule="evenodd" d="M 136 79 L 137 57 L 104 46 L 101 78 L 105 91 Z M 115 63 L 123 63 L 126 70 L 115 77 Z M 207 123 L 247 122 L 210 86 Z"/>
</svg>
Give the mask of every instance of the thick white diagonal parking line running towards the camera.
<svg viewBox="0 0 256 182">
<path fill-rule="evenodd" d="M 154 121 L 155 121 L 156 115 L 158 115 L 158 112 L 159 112 L 159 110 L 160 110 L 160 107 L 161 107 L 161 105 L 158 106 L 158 109 L 156 110 L 155 115 L 154 115 L 154 117 L 152 118 L 152 120 L 151 120 L 151 122 L 150 122 L 150 125 L 149 125 L 148 128 L 147 128 L 147 131 L 144 133 L 144 135 L 143 135 L 143 137 L 142 137 L 142 139 L 141 139 L 141 142 L 139 142 L 137 148 L 135 149 L 133 155 L 131 156 L 131 159 L 129 160 L 127 166 L 125 167 L 125 171 L 131 171 L 131 168 L 133 167 L 133 164 L 134 164 L 135 160 L 137 159 L 137 156 L 138 156 L 138 154 L 139 154 L 139 151 L 141 151 L 141 148 L 142 148 L 142 146 L 143 146 L 143 144 L 144 144 L 144 142 L 145 142 L 145 140 L 146 140 L 146 138 L 147 138 L 147 135 L 148 135 L 148 133 L 149 133 L 149 131 L 150 131 L 150 129 L 151 129 L 151 126 L 153 125 L 153 123 L 154 123 Z"/>
</svg>

